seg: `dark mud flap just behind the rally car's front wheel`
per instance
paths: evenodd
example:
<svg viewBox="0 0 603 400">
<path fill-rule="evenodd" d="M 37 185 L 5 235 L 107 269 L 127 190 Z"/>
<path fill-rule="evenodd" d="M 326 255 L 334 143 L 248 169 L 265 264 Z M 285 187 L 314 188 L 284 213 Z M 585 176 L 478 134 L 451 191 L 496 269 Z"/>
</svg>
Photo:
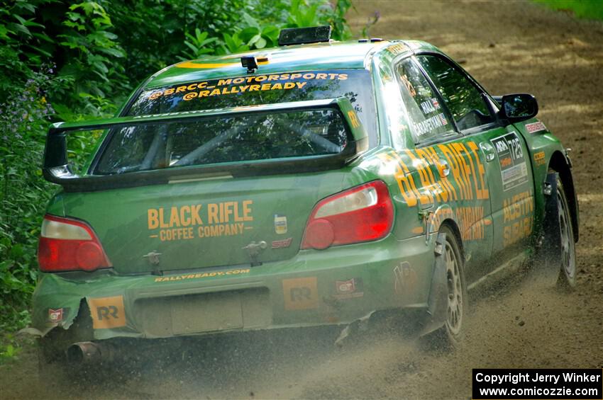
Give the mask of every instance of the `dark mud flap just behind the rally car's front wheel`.
<svg viewBox="0 0 603 400">
<path fill-rule="evenodd" d="M 542 224 L 542 244 L 536 251 L 536 268 L 548 276 L 559 273 L 561 259 L 561 228 L 559 226 L 559 205 L 557 202 L 558 173 L 548 173 L 544 182 L 544 220 Z"/>
</svg>

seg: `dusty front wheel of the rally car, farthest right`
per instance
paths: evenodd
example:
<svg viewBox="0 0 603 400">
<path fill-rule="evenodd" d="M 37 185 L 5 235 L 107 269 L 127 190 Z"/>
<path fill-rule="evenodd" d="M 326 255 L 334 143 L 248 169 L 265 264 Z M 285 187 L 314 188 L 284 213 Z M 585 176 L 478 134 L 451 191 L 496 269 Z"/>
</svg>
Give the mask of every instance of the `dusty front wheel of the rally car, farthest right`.
<svg viewBox="0 0 603 400">
<path fill-rule="evenodd" d="M 559 261 L 560 271 L 557 285 L 562 289 L 571 290 L 576 285 L 576 243 L 568 198 L 565 196 L 565 189 L 559 176 L 557 177 L 557 205 L 559 212 L 556 217 L 558 218 L 561 237 L 561 259 Z"/>
</svg>

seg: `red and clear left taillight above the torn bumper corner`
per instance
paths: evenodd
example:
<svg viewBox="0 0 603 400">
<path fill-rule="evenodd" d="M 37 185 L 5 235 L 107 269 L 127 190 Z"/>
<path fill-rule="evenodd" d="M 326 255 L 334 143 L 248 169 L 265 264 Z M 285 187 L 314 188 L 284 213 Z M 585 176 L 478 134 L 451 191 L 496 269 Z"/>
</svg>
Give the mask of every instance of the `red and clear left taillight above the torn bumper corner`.
<svg viewBox="0 0 603 400">
<path fill-rule="evenodd" d="M 42 222 L 38 263 L 44 272 L 111 267 L 99 238 L 87 223 L 54 215 L 45 215 Z"/>
</svg>

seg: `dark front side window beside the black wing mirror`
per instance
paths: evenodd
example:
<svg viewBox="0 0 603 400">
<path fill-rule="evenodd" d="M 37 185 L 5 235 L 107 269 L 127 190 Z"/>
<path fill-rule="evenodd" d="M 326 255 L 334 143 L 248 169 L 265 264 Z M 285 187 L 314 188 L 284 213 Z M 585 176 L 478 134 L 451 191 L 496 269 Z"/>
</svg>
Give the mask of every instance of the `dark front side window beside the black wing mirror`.
<svg viewBox="0 0 603 400">
<path fill-rule="evenodd" d="M 440 91 L 458 129 L 494 122 L 481 92 L 465 74 L 441 57 L 421 55 L 416 58 Z"/>
</svg>

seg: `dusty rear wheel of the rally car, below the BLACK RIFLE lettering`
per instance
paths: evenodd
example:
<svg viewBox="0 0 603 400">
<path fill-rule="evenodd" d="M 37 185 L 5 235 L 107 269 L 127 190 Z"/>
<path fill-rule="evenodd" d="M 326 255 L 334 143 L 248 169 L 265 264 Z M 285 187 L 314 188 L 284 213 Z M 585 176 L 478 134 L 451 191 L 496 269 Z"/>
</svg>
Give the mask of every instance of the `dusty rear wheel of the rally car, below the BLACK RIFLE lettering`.
<svg viewBox="0 0 603 400">
<path fill-rule="evenodd" d="M 467 284 L 458 237 L 450 227 L 444 225 L 441 234 L 446 234 L 446 247 L 443 257 L 446 262 L 446 282 L 448 304 L 445 324 L 429 334 L 426 339 L 430 347 L 453 350 L 458 348 L 465 336 L 465 320 L 468 311 Z"/>
</svg>

